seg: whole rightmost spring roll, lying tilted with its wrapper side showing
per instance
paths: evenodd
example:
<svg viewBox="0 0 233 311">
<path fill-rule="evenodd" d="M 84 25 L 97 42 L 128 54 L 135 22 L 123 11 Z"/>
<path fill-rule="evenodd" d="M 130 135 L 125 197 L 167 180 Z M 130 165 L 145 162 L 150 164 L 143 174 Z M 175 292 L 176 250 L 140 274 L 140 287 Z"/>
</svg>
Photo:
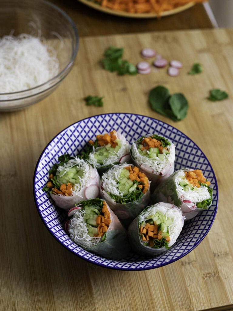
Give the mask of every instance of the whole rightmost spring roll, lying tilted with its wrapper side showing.
<svg viewBox="0 0 233 311">
<path fill-rule="evenodd" d="M 210 182 L 200 169 L 180 169 L 162 182 L 152 195 L 153 202 L 168 202 L 181 209 L 185 220 L 208 209 L 212 204 Z"/>
</svg>

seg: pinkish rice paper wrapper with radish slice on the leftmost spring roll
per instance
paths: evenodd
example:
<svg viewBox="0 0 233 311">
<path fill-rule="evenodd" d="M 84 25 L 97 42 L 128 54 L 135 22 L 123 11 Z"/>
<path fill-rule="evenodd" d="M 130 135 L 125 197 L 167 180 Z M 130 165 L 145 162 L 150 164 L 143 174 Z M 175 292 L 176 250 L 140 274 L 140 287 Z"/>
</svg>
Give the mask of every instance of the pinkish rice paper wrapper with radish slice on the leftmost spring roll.
<svg viewBox="0 0 233 311">
<path fill-rule="evenodd" d="M 99 182 L 100 176 L 95 167 L 89 165 L 89 179 L 86 183 L 81 185 L 79 192 L 74 193 L 71 196 L 64 196 L 62 194 L 50 193 L 54 203 L 63 209 L 69 210 L 78 204 L 80 201 L 94 199 L 99 196 Z"/>
</svg>

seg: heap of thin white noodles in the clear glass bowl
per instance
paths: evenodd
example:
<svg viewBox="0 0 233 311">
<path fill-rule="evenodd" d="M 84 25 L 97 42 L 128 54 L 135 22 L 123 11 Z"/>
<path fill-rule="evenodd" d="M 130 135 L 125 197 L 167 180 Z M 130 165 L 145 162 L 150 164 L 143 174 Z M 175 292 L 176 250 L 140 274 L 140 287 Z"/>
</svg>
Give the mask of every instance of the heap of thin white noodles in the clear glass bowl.
<svg viewBox="0 0 233 311">
<path fill-rule="evenodd" d="M 28 90 L 58 72 L 56 51 L 39 37 L 21 34 L 0 38 L 0 93 Z"/>
</svg>

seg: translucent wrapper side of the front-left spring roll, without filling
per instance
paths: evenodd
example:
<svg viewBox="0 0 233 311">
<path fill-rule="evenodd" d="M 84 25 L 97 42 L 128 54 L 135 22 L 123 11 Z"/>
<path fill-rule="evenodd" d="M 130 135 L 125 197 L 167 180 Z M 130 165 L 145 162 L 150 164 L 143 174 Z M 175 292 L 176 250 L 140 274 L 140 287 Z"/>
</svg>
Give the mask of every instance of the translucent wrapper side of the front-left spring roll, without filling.
<svg viewBox="0 0 233 311">
<path fill-rule="evenodd" d="M 108 211 L 110 212 L 110 219 L 112 221 L 106 232 L 106 239 L 104 241 L 101 241 L 100 239 L 100 242 L 98 242 L 98 244 L 89 248 L 83 247 L 80 244 L 79 245 L 82 246 L 85 250 L 91 253 L 95 253 L 104 258 L 108 259 L 125 258 L 131 250 L 129 240 L 127 237 L 127 231 L 123 227 L 117 216 L 113 213 L 113 211 L 111 211 L 108 204 L 107 208 Z"/>
</svg>

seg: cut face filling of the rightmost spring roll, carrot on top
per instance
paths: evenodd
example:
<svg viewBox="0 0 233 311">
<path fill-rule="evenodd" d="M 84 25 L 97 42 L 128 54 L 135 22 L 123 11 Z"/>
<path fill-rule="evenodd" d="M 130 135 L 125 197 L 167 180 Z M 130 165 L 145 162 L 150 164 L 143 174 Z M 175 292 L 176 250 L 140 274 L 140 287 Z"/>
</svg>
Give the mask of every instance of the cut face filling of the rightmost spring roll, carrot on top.
<svg viewBox="0 0 233 311">
<path fill-rule="evenodd" d="M 202 207 L 204 201 L 212 198 L 210 182 L 203 176 L 199 169 L 193 171 L 181 170 L 175 179 L 178 198 L 182 201 L 190 200 L 197 207 Z"/>
</svg>

